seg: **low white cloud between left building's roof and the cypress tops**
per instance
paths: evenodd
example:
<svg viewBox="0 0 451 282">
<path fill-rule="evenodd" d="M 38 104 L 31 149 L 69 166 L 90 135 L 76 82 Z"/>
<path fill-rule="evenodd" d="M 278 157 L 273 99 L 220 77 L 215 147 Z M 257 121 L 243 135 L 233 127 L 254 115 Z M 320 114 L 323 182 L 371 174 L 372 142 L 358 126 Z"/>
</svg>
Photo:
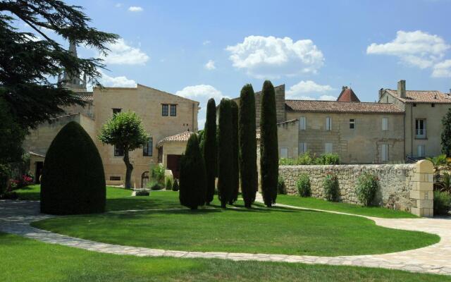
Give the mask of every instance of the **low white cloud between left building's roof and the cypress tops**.
<svg viewBox="0 0 451 282">
<path fill-rule="evenodd" d="M 204 128 L 206 117 L 206 103 L 210 98 L 214 98 L 216 105 L 219 104 L 222 98 L 227 97 L 211 85 L 192 85 L 175 92 L 176 95 L 199 101 L 200 111 L 197 118 L 199 129 Z"/>
</svg>

